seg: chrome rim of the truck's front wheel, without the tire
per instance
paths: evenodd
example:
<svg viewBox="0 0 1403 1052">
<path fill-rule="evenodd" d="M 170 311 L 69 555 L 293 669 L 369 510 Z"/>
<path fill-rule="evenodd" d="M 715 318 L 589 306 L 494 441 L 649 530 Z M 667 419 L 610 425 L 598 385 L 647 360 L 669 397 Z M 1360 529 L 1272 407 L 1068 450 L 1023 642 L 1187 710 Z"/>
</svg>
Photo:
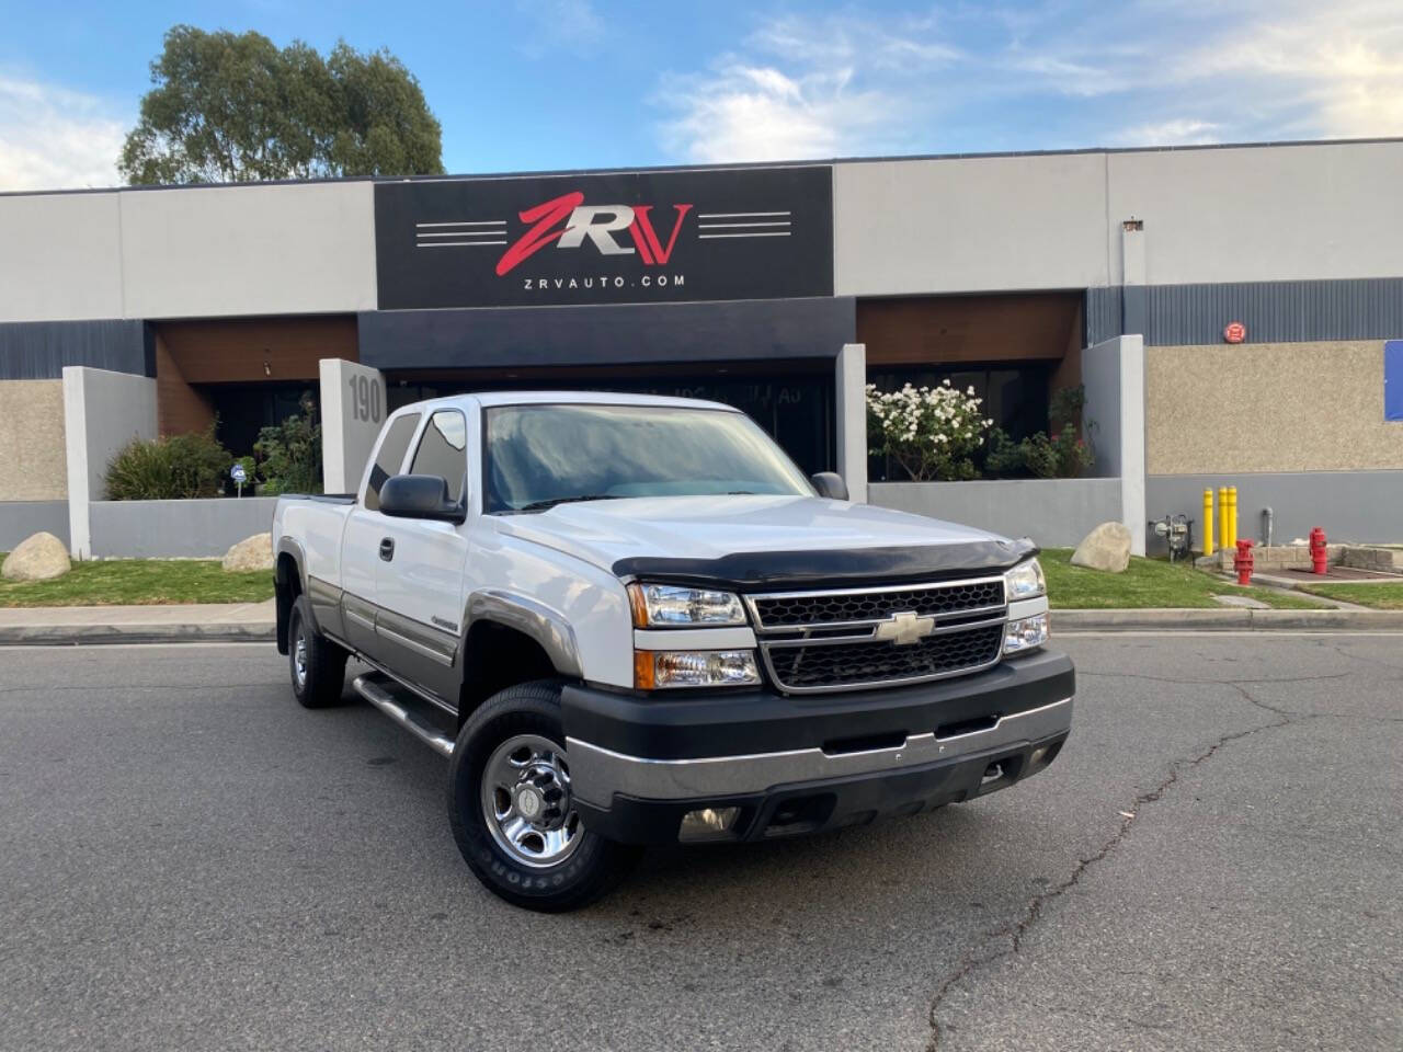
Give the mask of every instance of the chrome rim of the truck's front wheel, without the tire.
<svg viewBox="0 0 1403 1052">
<path fill-rule="evenodd" d="M 481 804 L 492 839 L 522 865 L 558 865 L 584 839 L 565 750 L 540 735 L 513 735 L 492 750 Z"/>
</svg>

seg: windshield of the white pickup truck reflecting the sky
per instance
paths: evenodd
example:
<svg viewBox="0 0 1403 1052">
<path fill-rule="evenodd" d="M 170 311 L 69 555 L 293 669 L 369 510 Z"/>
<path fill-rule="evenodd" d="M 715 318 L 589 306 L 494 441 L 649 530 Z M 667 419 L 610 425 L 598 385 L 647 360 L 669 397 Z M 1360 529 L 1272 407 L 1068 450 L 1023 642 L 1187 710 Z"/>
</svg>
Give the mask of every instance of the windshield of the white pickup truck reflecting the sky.
<svg viewBox="0 0 1403 1052">
<path fill-rule="evenodd" d="M 699 494 L 812 497 L 749 417 L 662 405 L 487 410 L 487 511 Z"/>
</svg>

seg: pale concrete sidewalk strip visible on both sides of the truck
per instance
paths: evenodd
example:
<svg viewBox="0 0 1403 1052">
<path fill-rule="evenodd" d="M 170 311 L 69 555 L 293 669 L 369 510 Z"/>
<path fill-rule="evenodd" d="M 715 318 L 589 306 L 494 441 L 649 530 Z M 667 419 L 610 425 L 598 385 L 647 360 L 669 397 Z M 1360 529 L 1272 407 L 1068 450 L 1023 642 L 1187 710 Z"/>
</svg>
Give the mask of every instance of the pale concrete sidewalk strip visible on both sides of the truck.
<svg viewBox="0 0 1403 1052">
<path fill-rule="evenodd" d="M 274 600 L 0 609 L 0 645 L 271 642 Z M 1052 633 L 1399 631 L 1403 610 L 1054 610 Z"/>
</svg>

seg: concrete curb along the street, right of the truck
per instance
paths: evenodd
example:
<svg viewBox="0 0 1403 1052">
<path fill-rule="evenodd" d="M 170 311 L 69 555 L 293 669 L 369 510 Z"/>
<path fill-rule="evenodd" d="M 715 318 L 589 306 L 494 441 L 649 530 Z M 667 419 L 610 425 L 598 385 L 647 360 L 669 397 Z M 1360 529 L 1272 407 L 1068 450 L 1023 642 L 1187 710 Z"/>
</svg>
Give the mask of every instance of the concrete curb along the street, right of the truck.
<svg viewBox="0 0 1403 1052">
<path fill-rule="evenodd" d="M 1052 631 L 1403 631 L 1403 610 L 1054 610 Z"/>
</svg>

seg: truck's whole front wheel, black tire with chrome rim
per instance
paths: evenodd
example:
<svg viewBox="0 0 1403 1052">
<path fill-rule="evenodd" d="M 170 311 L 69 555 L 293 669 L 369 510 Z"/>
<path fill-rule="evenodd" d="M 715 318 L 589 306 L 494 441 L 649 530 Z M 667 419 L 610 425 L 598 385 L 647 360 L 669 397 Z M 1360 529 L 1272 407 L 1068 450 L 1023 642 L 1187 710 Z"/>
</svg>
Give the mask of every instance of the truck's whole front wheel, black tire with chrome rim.
<svg viewBox="0 0 1403 1052">
<path fill-rule="evenodd" d="M 589 832 L 568 807 L 560 689 L 539 680 L 494 694 L 459 731 L 448 773 L 453 839 L 477 879 L 542 913 L 599 899 L 641 854 Z"/>
</svg>

